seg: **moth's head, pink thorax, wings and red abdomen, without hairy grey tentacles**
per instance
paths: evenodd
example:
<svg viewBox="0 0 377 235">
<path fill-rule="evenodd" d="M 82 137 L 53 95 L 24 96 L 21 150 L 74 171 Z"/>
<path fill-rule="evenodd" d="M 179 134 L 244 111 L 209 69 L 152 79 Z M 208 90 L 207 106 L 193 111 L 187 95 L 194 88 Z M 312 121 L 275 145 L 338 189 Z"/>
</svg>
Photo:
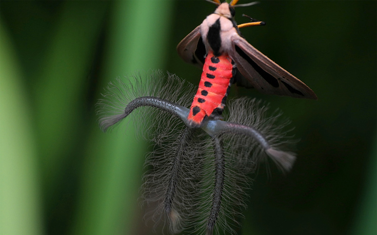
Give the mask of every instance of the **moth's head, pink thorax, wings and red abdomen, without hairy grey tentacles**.
<svg viewBox="0 0 377 235">
<path fill-rule="evenodd" d="M 228 4 L 213 0 L 217 5 L 215 11 L 177 46 L 178 55 L 184 61 L 203 68 L 188 115 L 191 127 L 200 127 L 208 117 L 221 118 L 233 83 L 264 94 L 317 99 L 304 82 L 256 50 L 241 35 L 239 28 L 265 23 L 254 20 L 237 26 L 234 20 L 237 2 L 232 0 Z M 237 6 L 253 4 L 255 2 Z"/>
</svg>

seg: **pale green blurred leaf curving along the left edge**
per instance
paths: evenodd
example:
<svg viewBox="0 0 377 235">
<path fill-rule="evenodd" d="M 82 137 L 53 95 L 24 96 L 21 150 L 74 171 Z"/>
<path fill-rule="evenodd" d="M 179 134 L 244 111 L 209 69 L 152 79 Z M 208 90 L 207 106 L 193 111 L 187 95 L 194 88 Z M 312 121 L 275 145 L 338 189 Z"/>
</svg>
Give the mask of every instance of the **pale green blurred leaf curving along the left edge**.
<svg viewBox="0 0 377 235">
<path fill-rule="evenodd" d="M 0 28 L 0 234 L 43 234 L 30 101 L 2 22 Z"/>
</svg>

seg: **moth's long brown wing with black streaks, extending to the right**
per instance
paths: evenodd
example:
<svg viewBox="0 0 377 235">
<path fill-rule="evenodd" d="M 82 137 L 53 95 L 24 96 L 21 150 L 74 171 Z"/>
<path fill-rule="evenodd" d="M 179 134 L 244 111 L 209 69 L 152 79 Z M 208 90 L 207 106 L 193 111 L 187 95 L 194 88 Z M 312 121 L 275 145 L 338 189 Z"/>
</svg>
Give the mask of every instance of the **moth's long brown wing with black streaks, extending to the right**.
<svg viewBox="0 0 377 235">
<path fill-rule="evenodd" d="M 239 79 L 237 84 L 245 86 L 246 79 L 253 88 L 265 94 L 318 99 L 304 82 L 256 50 L 240 35 L 232 36 L 231 40 L 234 48 L 229 55 L 243 75 L 236 78 Z"/>
</svg>

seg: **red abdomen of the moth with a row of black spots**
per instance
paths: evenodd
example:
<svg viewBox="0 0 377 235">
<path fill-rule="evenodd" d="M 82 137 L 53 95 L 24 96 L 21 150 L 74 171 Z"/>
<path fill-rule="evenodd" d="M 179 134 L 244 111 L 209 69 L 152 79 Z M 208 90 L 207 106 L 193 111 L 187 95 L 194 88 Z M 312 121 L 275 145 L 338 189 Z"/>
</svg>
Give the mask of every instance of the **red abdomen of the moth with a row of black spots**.
<svg viewBox="0 0 377 235">
<path fill-rule="evenodd" d="M 190 113 L 187 117 L 189 125 L 199 127 L 204 118 L 220 118 L 230 86 L 233 83 L 233 65 L 229 56 L 215 56 L 208 51 L 203 66 L 203 73 Z"/>
</svg>

